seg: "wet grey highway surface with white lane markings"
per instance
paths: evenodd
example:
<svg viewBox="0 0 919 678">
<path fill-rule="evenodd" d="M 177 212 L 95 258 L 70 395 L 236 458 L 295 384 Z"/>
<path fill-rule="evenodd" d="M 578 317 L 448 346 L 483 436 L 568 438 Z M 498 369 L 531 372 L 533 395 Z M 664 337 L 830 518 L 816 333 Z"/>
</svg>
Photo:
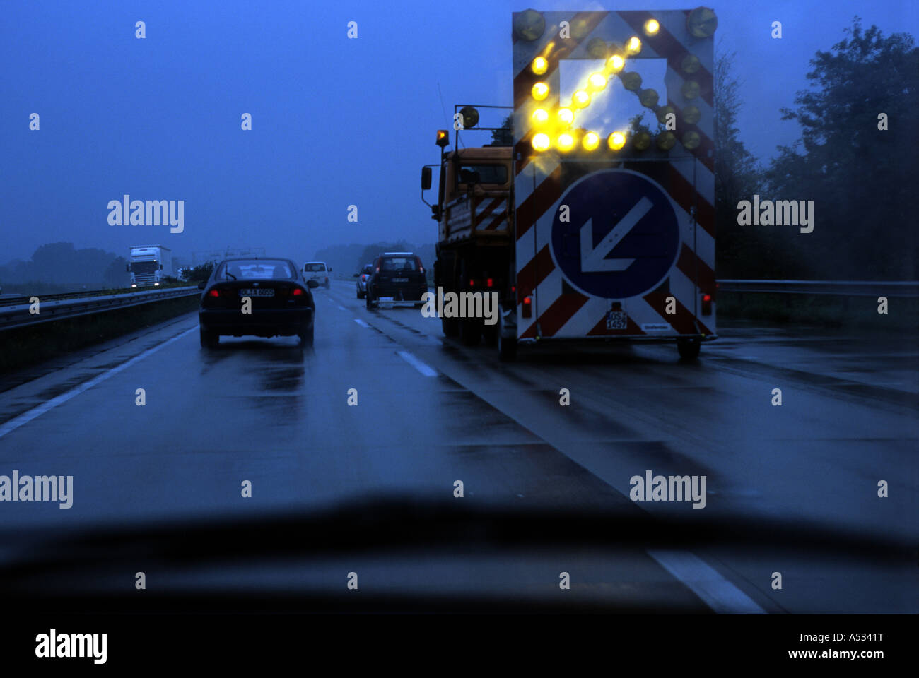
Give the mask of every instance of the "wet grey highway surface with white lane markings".
<svg viewBox="0 0 919 678">
<path fill-rule="evenodd" d="M 74 534 L 375 496 L 777 525 L 778 534 L 812 530 L 815 550 L 742 539 L 667 548 L 613 534 L 612 550 L 420 548 L 219 576 L 227 586 L 249 576 L 344 594 L 345 573 L 358 571 L 361 590 L 550 598 L 567 571 L 564 594 L 639 609 L 919 612 L 915 558 L 818 548 L 821 537 L 831 547 L 848 537 L 919 544 L 914 335 L 736 324 L 695 364 L 679 362 L 673 345 L 539 349 L 504 364 L 493 348 L 443 338 L 437 319 L 411 307 L 368 311 L 353 283 L 314 296 L 315 345 L 305 352 L 294 337 L 223 337 L 208 352 L 188 314 L 8 379 L 0 474 L 72 475 L 74 492 L 69 509 L 0 503 L 3 528 Z M 646 470 L 705 476 L 705 506 L 632 502 L 630 479 Z M 0 563 L 22 558 L 0 546 Z M 168 575 L 192 581 L 183 577 Z"/>
</svg>

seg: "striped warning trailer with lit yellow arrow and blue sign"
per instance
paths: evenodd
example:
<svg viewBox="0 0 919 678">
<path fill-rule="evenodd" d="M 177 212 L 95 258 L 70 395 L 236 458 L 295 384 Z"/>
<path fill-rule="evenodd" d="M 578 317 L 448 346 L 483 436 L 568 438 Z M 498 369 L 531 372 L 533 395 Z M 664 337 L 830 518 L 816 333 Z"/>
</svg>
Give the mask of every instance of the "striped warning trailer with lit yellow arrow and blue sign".
<svg viewBox="0 0 919 678">
<path fill-rule="evenodd" d="M 503 335 L 676 341 L 686 357 L 716 338 L 717 23 L 707 7 L 514 13 Z"/>
</svg>

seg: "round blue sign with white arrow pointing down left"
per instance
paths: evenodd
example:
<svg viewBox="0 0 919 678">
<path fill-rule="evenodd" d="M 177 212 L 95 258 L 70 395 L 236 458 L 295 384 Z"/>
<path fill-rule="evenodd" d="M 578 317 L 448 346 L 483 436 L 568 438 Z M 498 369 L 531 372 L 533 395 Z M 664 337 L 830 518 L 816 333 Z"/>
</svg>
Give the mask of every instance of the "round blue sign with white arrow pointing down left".
<svg viewBox="0 0 919 678">
<path fill-rule="evenodd" d="M 601 170 L 575 182 L 552 220 L 552 256 L 574 288 L 625 299 L 657 287 L 674 265 L 680 227 L 664 188 L 631 170 Z"/>
</svg>

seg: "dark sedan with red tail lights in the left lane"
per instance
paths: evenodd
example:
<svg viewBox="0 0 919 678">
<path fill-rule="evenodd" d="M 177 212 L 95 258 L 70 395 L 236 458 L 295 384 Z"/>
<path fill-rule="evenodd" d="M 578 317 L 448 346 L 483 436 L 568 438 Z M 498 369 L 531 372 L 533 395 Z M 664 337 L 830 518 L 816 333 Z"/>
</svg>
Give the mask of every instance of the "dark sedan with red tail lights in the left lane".
<svg viewBox="0 0 919 678">
<path fill-rule="evenodd" d="M 198 322 L 201 346 L 213 348 L 221 335 L 293 336 L 312 345 L 314 280 L 301 277 L 289 259 L 240 257 L 225 259 L 200 283 Z M 251 312 L 244 313 L 244 298 Z"/>
</svg>

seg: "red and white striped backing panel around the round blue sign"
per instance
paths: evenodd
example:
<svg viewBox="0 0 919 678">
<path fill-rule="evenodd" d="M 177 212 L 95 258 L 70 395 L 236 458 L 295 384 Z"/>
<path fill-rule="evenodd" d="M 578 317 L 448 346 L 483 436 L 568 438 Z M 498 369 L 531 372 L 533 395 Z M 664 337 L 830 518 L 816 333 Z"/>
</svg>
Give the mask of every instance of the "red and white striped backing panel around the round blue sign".
<svg viewBox="0 0 919 678">
<path fill-rule="evenodd" d="M 522 304 L 528 296 L 533 299 L 531 318 L 523 318 L 522 307 L 517 309 L 518 337 L 714 334 L 714 304 L 710 315 L 701 315 L 700 308 L 702 296 L 713 297 L 715 292 L 712 39 L 689 33 L 689 10 L 541 14 L 545 20 L 542 35 L 531 41 L 515 39 L 514 43 L 517 302 Z M 647 36 L 643 27 L 652 18 L 660 29 Z M 560 37 L 562 21 L 569 22 L 571 37 L 567 39 Z M 658 107 L 667 105 L 675 110 L 675 146 L 665 155 L 622 153 L 609 164 L 589 166 L 558 153 L 534 151 L 531 141 L 536 131 L 530 116 L 535 107 L 552 110 L 558 106 L 562 59 L 595 59 L 587 52 L 592 40 L 621 45 L 632 36 L 641 40 L 641 52 L 627 59 L 624 71 L 630 59 L 667 62 L 666 92 L 659 93 Z M 537 56 L 548 62 L 547 71 L 539 75 L 530 68 Z M 686 72 L 687 63 L 691 73 Z M 537 104 L 531 90 L 539 81 L 549 85 L 550 94 Z M 698 96 L 684 96 L 687 82 L 695 83 L 690 85 L 694 89 L 698 85 Z M 686 122 L 687 107 L 698 108 L 698 122 Z M 687 132 L 698 134 L 696 148 L 683 146 L 681 140 Z M 658 184 L 671 199 L 679 223 L 680 243 L 669 273 L 654 288 L 629 299 L 593 297 L 578 291 L 562 275 L 552 253 L 552 221 L 566 190 L 585 175 L 609 167 L 640 173 Z M 675 298 L 675 313 L 665 311 L 671 296 Z M 625 329 L 607 329 L 612 302 L 626 311 Z"/>
</svg>

